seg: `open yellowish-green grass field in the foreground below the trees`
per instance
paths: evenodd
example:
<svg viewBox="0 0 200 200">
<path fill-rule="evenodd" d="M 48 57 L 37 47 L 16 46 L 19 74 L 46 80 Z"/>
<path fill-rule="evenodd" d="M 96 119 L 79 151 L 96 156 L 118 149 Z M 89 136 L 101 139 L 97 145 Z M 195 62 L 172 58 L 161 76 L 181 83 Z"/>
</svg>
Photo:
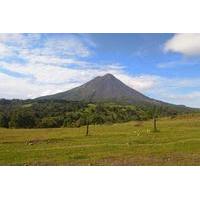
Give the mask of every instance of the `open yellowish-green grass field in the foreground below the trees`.
<svg viewBox="0 0 200 200">
<path fill-rule="evenodd" d="M 0 129 L 0 165 L 200 165 L 200 117 L 60 129 Z"/>
</svg>

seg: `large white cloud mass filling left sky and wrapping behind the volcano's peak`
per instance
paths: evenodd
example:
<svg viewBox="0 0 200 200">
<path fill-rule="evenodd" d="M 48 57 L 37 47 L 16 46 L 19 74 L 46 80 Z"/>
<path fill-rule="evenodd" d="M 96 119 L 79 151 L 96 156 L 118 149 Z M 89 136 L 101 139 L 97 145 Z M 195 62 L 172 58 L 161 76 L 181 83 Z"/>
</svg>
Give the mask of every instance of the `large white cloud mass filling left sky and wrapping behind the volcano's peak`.
<svg viewBox="0 0 200 200">
<path fill-rule="evenodd" d="M 145 91 L 150 76 L 131 77 L 119 63 L 89 62 L 96 45 L 74 34 L 0 34 L 0 98 L 35 98 L 66 91 L 112 73 L 129 86 Z M 145 79 L 145 81 L 144 81 Z"/>
</svg>

